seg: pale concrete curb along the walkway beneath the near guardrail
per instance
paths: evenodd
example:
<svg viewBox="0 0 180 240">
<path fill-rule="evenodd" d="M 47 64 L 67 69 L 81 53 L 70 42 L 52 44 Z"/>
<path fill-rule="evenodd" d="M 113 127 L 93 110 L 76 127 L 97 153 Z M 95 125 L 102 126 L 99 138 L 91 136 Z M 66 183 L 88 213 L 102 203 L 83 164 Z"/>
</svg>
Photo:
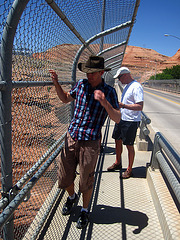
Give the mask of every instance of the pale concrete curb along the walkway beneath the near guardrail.
<svg viewBox="0 0 180 240">
<path fill-rule="evenodd" d="M 180 236 L 180 214 L 165 184 L 159 169 L 147 169 L 147 181 L 164 239 L 178 240 Z"/>
</svg>

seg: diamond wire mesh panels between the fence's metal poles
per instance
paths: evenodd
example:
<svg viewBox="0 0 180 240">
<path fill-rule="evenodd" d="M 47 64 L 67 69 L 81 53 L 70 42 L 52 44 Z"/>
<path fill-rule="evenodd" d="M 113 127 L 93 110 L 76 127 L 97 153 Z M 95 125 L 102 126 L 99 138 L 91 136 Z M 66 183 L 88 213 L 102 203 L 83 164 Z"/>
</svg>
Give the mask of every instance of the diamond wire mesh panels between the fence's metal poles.
<svg viewBox="0 0 180 240">
<path fill-rule="evenodd" d="M 87 41 L 101 32 L 102 0 L 57 0 L 58 7 L 81 37 Z M 104 30 L 132 19 L 135 0 L 106 1 Z M 0 41 L 13 0 L 0 3 Z M 129 28 L 105 36 L 103 50 L 127 40 Z M 30 0 L 19 20 L 13 43 L 12 81 L 51 81 L 49 69 L 55 69 L 59 81 L 71 80 L 73 61 L 82 43 L 44 0 Z M 90 44 L 94 54 L 100 51 L 100 39 Z M 125 45 L 104 53 L 108 59 L 125 50 Z M 86 61 L 85 49 L 79 61 Z M 108 60 L 106 65 L 122 56 Z M 77 79 L 85 77 L 77 70 Z M 68 91 L 71 85 L 65 84 Z M 54 86 L 17 87 L 12 90 L 12 168 L 13 185 L 66 132 L 70 105 L 57 97 Z M 14 214 L 15 239 L 22 239 L 37 212 L 57 181 L 56 160 Z"/>
</svg>

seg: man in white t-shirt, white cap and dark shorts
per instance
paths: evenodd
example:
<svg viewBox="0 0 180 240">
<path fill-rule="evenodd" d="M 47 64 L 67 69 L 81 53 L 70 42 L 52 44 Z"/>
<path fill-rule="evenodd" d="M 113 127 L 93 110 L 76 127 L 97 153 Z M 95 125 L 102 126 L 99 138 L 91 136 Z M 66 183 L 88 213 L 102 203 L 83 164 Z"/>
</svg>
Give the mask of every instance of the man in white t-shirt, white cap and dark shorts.
<svg viewBox="0 0 180 240">
<path fill-rule="evenodd" d="M 108 171 L 115 171 L 122 168 L 121 154 L 123 145 L 128 150 L 129 165 L 123 172 L 122 178 L 126 179 L 132 176 L 132 166 L 135 157 L 134 141 L 137 128 L 141 121 L 141 111 L 143 109 L 144 94 L 140 83 L 131 77 L 130 70 L 126 67 L 118 69 L 114 78 L 118 78 L 122 84 L 126 84 L 119 107 L 121 109 L 121 121 L 115 124 L 112 138 L 116 143 L 116 161 L 110 166 Z"/>
</svg>

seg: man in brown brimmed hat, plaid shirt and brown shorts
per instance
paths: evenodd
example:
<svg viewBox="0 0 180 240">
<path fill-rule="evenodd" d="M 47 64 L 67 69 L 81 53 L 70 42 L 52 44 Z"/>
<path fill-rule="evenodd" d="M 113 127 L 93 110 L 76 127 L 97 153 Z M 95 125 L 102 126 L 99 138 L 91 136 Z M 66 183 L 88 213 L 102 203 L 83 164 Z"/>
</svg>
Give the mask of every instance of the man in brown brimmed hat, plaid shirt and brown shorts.
<svg viewBox="0 0 180 240">
<path fill-rule="evenodd" d="M 81 229 L 89 222 L 88 206 L 100 150 L 101 128 L 108 115 L 119 123 L 121 113 L 115 89 L 102 79 L 104 71 L 110 70 L 104 67 L 104 58 L 91 56 L 86 63 L 79 63 L 78 68 L 87 74 L 87 79 L 79 80 L 69 92 L 65 92 L 59 85 L 56 72 L 49 72 L 60 100 L 64 103 L 75 100 L 74 116 L 58 163 L 58 183 L 59 187 L 66 189 L 69 194 L 62 209 L 62 214 L 67 215 L 78 200 L 74 191 L 74 180 L 79 164 L 79 190 L 83 196 L 83 207 L 77 228 Z"/>
</svg>

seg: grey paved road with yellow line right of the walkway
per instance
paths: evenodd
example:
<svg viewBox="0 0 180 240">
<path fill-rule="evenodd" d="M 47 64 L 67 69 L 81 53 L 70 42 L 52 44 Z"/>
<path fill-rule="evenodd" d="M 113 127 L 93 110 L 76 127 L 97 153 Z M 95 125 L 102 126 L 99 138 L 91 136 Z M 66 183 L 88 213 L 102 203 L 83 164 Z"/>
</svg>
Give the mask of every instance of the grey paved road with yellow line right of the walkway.
<svg viewBox="0 0 180 240">
<path fill-rule="evenodd" d="M 144 113 L 180 153 L 180 95 L 144 87 Z"/>
</svg>

